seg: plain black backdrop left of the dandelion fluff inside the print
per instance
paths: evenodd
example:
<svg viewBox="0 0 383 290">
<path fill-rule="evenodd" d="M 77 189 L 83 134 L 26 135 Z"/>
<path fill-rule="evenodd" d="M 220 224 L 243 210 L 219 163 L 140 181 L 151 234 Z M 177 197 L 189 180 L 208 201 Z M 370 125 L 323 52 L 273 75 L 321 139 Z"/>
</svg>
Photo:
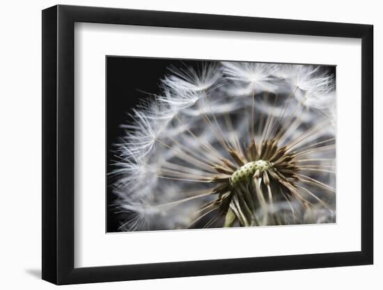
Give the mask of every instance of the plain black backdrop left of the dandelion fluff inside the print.
<svg viewBox="0 0 383 290">
<path fill-rule="evenodd" d="M 113 144 L 123 136 L 121 124 L 129 122 L 132 108 L 140 99 L 148 97 L 147 93 L 159 94 L 160 80 L 169 73 L 171 65 L 175 67 L 194 67 L 198 69 L 199 61 L 175 60 L 171 58 L 133 58 L 126 56 L 107 56 L 107 172 L 116 161 Z M 209 63 L 205 62 L 204 63 Z M 110 181 L 107 179 L 107 185 Z M 107 232 L 117 232 L 120 216 L 114 213 L 116 197 L 107 186 Z M 121 220 L 122 221 L 122 220 Z"/>
</svg>

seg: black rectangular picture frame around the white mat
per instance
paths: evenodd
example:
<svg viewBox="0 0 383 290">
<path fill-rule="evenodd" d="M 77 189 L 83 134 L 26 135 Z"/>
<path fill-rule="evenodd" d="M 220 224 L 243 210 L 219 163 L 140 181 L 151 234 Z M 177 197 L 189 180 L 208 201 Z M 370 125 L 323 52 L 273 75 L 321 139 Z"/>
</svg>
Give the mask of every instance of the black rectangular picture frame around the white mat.
<svg viewBox="0 0 383 290">
<path fill-rule="evenodd" d="M 361 39 L 361 251 L 75 268 L 75 22 Z M 373 264 L 373 26 L 119 8 L 42 10 L 42 279 L 78 284 Z"/>
</svg>

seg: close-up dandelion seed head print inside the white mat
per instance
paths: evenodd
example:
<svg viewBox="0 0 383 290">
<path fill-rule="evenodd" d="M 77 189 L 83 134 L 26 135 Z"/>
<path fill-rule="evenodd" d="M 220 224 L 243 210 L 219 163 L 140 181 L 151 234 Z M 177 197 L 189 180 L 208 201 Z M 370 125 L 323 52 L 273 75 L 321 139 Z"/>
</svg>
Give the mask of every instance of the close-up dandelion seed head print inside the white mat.
<svg viewBox="0 0 383 290">
<path fill-rule="evenodd" d="M 336 67 L 107 56 L 107 232 L 336 223 Z"/>
</svg>

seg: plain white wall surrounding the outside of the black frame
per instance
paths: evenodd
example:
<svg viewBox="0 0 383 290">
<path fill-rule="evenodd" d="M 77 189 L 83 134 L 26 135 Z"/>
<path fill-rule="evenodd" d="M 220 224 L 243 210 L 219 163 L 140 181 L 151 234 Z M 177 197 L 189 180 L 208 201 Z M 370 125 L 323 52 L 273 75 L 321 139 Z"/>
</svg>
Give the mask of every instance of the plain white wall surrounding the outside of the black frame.
<svg viewBox="0 0 383 290">
<path fill-rule="evenodd" d="M 383 18 L 379 1 L 180 1 L 86 0 L 62 4 L 110 6 L 196 13 L 355 22 L 375 26 L 375 148 L 383 146 L 377 127 L 383 123 Z M 1 3 L 0 59 L 0 285 L 2 289 L 52 289 L 40 280 L 41 198 L 41 13 L 56 1 Z M 375 150 L 375 177 L 383 173 L 383 154 Z M 382 289 L 383 186 L 375 186 L 375 265 L 303 271 L 219 275 L 166 280 L 86 284 L 65 289 Z M 380 274 L 380 275 L 379 275 Z"/>
</svg>

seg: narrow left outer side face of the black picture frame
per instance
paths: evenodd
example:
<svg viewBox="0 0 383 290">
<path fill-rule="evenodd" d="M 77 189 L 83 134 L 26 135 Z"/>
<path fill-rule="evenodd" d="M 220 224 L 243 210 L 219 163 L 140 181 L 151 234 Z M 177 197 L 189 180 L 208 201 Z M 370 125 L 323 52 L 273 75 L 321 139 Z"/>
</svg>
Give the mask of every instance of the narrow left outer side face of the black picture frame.
<svg viewBox="0 0 383 290">
<path fill-rule="evenodd" d="M 42 10 L 42 280 L 57 282 L 57 6 Z"/>
</svg>

